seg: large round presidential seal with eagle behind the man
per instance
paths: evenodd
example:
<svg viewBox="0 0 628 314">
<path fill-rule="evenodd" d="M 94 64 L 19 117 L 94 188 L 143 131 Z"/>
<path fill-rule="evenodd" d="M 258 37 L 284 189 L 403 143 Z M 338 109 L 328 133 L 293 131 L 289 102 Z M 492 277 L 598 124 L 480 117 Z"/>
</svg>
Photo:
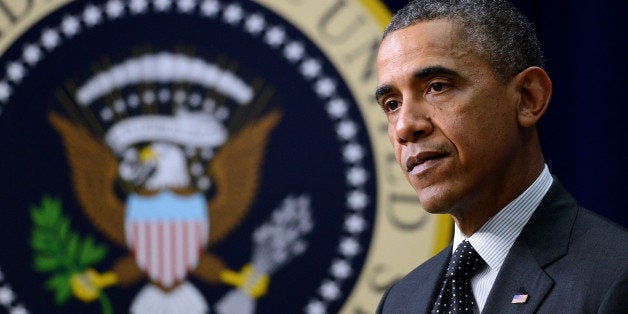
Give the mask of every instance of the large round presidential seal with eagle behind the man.
<svg viewBox="0 0 628 314">
<path fill-rule="evenodd" d="M 450 233 L 372 100 L 388 15 L 0 0 L 0 308 L 372 312 Z"/>
</svg>

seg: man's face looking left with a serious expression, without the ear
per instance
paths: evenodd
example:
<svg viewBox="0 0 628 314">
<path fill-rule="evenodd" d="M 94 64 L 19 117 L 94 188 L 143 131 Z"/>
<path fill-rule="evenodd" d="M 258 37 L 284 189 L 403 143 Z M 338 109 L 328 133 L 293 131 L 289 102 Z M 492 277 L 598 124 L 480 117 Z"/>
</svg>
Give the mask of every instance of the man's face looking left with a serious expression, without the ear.
<svg viewBox="0 0 628 314">
<path fill-rule="evenodd" d="M 495 206 L 522 155 L 521 94 L 457 36 L 446 20 L 421 22 L 390 33 L 377 56 L 397 162 L 433 213 Z"/>
</svg>

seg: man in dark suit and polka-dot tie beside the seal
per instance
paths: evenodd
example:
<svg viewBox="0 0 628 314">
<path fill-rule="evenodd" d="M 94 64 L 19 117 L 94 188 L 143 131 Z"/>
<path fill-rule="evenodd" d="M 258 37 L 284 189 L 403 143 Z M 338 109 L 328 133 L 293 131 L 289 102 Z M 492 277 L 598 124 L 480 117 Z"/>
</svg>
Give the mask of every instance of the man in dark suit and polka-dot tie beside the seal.
<svg viewBox="0 0 628 314">
<path fill-rule="evenodd" d="M 628 313 L 628 233 L 549 172 L 552 83 L 532 25 L 498 0 L 412 1 L 384 32 L 376 99 L 421 206 L 452 245 L 378 313 Z"/>
</svg>

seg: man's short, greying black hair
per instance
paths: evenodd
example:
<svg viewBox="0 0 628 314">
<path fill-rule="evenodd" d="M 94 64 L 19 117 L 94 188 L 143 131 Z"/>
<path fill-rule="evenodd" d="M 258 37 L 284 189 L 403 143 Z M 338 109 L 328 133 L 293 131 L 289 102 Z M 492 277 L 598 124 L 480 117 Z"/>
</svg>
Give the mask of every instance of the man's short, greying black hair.
<svg viewBox="0 0 628 314">
<path fill-rule="evenodd" d="M 506 82 L 531 67 L 543 68 L 534 26 L 503 0 L 414 0 L 399 10 L 384 30 L 388 34 L 419 22 L 446 19 L 459 26 L 459 38 L 488 62 Z"/>
</svg>

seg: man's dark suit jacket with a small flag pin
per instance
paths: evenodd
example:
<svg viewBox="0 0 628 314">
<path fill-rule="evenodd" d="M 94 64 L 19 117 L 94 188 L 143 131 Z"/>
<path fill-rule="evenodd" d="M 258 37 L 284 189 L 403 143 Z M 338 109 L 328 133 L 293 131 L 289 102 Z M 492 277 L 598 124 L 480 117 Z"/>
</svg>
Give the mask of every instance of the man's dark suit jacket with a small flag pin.
<svg viewBox="0 0 628 314">
<path fill-rule="evenodd" d="M 428 313 L 452 246 L 391 286 L 377 313 Z M 518 293 L 524 304 L 512 304 Z M 482 313 L 628 313 L 628 232 L 554 180 L 508 253 Z"/>
</svg>

